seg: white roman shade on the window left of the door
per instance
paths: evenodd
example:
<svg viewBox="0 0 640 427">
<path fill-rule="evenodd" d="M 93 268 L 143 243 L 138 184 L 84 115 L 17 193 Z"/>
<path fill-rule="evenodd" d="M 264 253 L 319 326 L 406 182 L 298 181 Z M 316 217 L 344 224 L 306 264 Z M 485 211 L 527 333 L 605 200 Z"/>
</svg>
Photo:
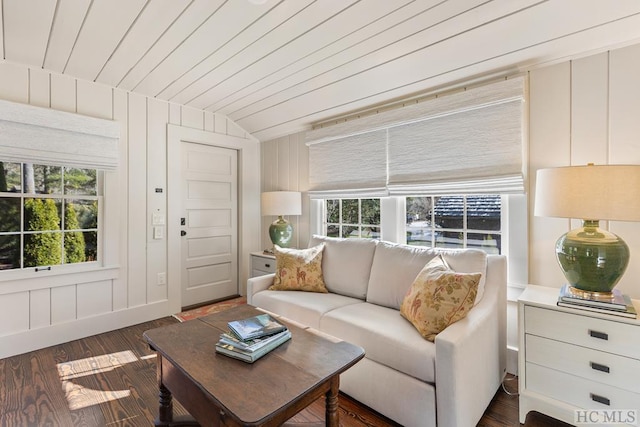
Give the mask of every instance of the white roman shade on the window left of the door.
<svg viewBox="0 0 640 427">
<path fill-rule="evenodd" d="M 114 170 L 117 122 L 0 100 L 2 161 Z"/>
</svg>

